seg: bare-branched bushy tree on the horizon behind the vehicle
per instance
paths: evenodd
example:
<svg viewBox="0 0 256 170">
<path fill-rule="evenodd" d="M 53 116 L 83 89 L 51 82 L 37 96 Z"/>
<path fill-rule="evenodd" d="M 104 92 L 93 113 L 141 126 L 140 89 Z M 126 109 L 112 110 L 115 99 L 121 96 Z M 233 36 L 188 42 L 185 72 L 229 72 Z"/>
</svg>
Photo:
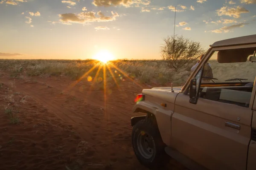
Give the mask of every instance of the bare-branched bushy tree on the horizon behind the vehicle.
<svg viewBox="0 0 256 170">
<path fill-rule="evenodd" d="M 200 42 L 194 42 L 183 36 L 174 35 L 163 40 L 161 57 L 167 62 L 168 67 L 175 68 L 175 71 L 186 68 L 205 52 Z"/>
</svg>

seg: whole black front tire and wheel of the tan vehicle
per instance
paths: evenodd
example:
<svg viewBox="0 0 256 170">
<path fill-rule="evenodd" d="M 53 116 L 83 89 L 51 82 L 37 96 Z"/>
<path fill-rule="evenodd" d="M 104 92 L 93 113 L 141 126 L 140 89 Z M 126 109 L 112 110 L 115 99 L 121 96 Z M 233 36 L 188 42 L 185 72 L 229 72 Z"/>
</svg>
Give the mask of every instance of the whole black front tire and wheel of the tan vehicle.
<svg viewBox="0 0 256 170">
<path fill-rule="evenodd" d="M 131 139 L 134 153 L 145 167 L 159 169 L 168 163 L 169 156 L 164 151 L 166 144 L 163 143 L 158 127 L 152 119 L 137 122 L 133 127 Z"/>
</svg>

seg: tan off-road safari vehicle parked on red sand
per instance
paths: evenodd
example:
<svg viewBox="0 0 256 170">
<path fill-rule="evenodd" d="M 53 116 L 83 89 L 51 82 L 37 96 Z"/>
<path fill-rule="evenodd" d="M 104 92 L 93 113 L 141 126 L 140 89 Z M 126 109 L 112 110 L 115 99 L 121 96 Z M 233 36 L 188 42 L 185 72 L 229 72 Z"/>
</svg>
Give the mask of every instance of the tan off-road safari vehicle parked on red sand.
<svg viewBox="0 0 256 170">
<path fill-rule="evenodd" d="M 256 34 L 210 45 L 181 88 L 143 89 L 131 118 L 141 164 L 256 170 Z M 204 76 L 209 62 L 213 77 Z M 171 165 L 170 165 L 171 166 Z"/>
</svg>

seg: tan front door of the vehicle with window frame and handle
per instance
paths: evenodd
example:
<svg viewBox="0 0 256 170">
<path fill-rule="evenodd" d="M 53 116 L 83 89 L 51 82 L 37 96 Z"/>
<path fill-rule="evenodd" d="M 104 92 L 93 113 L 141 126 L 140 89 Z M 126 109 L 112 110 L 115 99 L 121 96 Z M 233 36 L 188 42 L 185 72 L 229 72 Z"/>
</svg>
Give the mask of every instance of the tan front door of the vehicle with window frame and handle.
<svg viewBox="0 0 256 170">
<path fill-rule="evenodd" d="M 247 47 L 244 50 L 251 54 L 249 47 L 256 45 Z M 256 63 L 249 63 L 247 57 L 235 58 L 239 62 L 229 55 L 223 59 L 220 54 L 229 54 L 232 48 L 213 48 L 208 53 L 201 64 L 209 63 L 216 79 L 204 76 L 204 65 L 198 67 L 193 77 L 195 98 L 189 97 L 187 85 L 177 95 L 172 116 L 172 147 L 212 170 L 246 170 L 247 164 L 255 96 L 255 87 L 247 83 L 254 82 L 256 72 L 246 69 L 255 68 Z M 228 61 L 233 63 L 223 63 Z M 247 80 L 230 80 L 234 78 Z"/>
</svg>

